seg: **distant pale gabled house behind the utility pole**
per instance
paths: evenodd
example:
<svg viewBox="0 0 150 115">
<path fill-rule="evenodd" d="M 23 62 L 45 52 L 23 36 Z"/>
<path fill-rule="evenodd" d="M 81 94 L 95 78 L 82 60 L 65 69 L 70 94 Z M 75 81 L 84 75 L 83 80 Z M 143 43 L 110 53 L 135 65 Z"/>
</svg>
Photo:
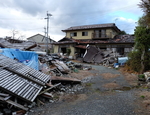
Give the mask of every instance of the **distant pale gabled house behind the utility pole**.
<svg viewBox="0 0 150 115">
<path fill-rule="evenodd" d="M 47 48 L 47 43 L 48 43 L 48 49 L 52 50 L 53 49 L 53 46 L 52 46 L 52 43 L 54 43 L 55 41 L 41 35 L 41 34 L 36 34 L 34 36 L 31 36 L 29 38 L 27 38 L 28 41 L 34 41 L 36 42 L 37 44 L 39 44 L 41 46 L 41 48 L 43 48 L 43 50 L 45 51 L 46 48 Z"/>
</svg>

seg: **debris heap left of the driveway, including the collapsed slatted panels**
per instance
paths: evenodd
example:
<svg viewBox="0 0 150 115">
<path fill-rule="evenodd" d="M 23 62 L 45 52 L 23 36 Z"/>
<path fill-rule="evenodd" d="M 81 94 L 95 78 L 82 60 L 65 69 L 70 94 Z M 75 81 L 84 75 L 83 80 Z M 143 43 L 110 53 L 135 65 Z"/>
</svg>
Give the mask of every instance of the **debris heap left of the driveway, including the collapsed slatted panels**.
<svg viewBox="0 0 150 115">
<path fill-rule="evenodd" d="M 23 115 L 34 106 L 55 102 L 64 93 L 83 90 L 81 80 L 70 73 L 90 70 L 72 61 L 40 57 L 40 71 L 0 54 L 0 114 Z"/>
</svg>

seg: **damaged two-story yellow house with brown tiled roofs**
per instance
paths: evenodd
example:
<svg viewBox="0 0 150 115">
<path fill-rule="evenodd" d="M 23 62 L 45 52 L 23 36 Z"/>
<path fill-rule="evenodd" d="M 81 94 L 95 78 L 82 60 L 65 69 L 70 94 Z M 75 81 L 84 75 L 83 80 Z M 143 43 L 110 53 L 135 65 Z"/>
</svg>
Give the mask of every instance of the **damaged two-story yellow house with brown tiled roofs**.
<svg viewBox="0 0 150 115">
<path fill-rule="evenodd" d="M 74 26 L 62 30 L 66 36 L 54 43 L 54 53 L 67 53 L 71 50 L 70 56 L 82 57 L 87 45 L 92 45 L 100 50 L 112 50 L 120 55 L 126 55 L 134 46 L 133 35 L 119 35 L 120 29 L 114 24 L 95 24 Z"/>
</svg>

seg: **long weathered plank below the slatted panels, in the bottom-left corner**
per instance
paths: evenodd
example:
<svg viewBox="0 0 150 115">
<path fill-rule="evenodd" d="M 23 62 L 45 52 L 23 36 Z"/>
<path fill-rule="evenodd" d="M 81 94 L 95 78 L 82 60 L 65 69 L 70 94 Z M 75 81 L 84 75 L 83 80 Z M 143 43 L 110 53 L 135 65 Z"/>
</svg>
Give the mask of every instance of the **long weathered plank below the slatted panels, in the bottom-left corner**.
<svg viewBox="0 0 150 115">
<path fill-rule="evenodd" d="M 23 109 L 23 110 L 28 111 L 28 108 L 24 107 L 23 105 L 18 104 L 18 103 L 16 103 L 16 102 L 13 102 L 13 101 L 11 101 L 11 100 L 9 100 L 9 99 L 5 101 L 4 99 L 5 99 L 5 98 L 0 97 L 0 100 L 1 100 L 1 101 L 7 102 L 7 103 L 9 103 L 9 104 L 11 104 L 11 105 L 14 105 L 15 107 L 18 107 L 18 108 L 20 108 L 20 109 Z"/>
</svg>

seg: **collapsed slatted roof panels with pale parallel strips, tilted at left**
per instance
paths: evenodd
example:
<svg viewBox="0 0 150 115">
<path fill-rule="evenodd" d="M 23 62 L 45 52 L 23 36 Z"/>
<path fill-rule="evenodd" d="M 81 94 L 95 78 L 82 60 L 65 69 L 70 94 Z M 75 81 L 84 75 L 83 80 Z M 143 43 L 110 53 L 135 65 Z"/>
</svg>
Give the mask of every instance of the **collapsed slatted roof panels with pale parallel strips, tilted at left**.
<svg viewBox="0 0 150 115">
<path fill-rule="evenodd" d="M 0 89 L 33 102 L 51 76 L 0 54 Z"/>
</svg>

